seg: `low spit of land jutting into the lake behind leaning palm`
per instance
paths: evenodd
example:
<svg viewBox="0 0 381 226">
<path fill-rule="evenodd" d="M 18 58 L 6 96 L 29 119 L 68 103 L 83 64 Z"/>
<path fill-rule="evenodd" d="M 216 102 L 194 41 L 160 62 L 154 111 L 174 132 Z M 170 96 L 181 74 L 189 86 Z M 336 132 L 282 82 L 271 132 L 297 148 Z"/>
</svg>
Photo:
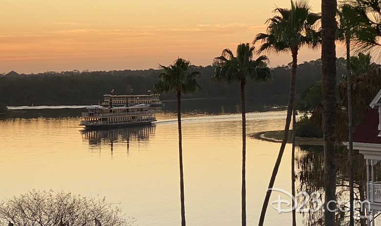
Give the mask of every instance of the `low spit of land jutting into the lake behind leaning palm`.
<svg viewBox="0 0 381 226">
<path fill-rule="evenodd" d="M 281 143 L 283 139 L 284 130 L 275 130 L 275 131 L 263 131 L 258 133 L 249 134 L 251 138 L 268 141 L 274 143 Z M 288 134 L 287 143 L 292 143 L 292 129 L 290 129 Z M 316 137 L 296 137 L 295 144 L 298 145 L 323 145 L 323 138 Z"/>
</svg>

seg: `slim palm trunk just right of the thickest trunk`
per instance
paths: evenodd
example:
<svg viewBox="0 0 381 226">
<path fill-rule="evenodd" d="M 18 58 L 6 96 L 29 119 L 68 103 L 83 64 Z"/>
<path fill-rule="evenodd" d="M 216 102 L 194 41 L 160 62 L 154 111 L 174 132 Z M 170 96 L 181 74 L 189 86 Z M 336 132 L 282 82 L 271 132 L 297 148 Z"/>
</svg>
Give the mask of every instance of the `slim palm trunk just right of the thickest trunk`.
<svg viewBox="0 0 381 226">
<path fill-rule="evenodd" d="M 347 48 L 347 90 L 348 90 L 348 159 L 349 159 L 349 226 L 354 226 L 354 172 L 353 172 L 353 140 L 352 140 L 352 90 L 351 90 L 351 56 L 350 56 L 350 39 L 346 39 L 346 48 Z"/>
</svg>

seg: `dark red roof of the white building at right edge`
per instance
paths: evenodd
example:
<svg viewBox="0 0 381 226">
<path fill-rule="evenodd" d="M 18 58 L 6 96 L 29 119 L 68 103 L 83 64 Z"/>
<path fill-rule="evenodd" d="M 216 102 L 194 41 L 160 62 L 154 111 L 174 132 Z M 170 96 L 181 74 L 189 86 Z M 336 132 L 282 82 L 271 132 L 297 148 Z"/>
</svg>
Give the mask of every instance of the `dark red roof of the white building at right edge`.
<svg viewBox="0 0 381 226">
<path fill-rule="evenodd" d="M 379 110 L 377 107 L 370 109 L 362 122 L 356 126 L 353 134 L 353 142 L 381 144 L 381 137 L 378 137 L 380 131 Z"/>
</svg>

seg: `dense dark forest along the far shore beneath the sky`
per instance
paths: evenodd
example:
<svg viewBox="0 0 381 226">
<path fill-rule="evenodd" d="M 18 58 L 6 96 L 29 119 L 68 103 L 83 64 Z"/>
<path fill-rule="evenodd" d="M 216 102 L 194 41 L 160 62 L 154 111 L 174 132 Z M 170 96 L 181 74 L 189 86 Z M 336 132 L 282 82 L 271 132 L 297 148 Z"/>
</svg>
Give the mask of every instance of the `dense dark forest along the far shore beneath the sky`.
<svg viewBox="0 0 381 226">
<path fill-rule="evenodd" d="M 321 79 L 321 60 L 303 62 L 298 65 L 296 94 Z M 202 90 L 185 98 L 237 97 L 237 84 L 213 82 L 214 66 L 192 66 L 202 76 Z M 290 85 L 291 64 L 272 68 L 273 81 L 268 83 L 248 82 L 246 96 L 264 98 L 287 96 Z M 338 77 L 345 72 L 345 60 L 338 59 Z M 91 104 L 102 101 L 111 89 L 116 94 L 144 94 L 158 82 L 159 69 L 123 71 L 64 71 L 39 74 L 0 76 L 0 103 L 8 106 L 44 104 Z M 175 94 L 162 94 L 162 100 L 174 100 Z"/>
</svg>

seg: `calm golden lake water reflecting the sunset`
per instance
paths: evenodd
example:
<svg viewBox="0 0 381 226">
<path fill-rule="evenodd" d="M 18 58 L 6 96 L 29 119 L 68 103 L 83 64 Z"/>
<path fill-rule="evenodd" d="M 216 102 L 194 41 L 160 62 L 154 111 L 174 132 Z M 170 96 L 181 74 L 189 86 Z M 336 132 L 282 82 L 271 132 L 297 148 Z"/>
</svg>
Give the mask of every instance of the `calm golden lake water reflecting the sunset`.
<svg viewBox="0 0 381 226">
<path fill-rule="evenodd" d="M 233 226 L 241 219 L 241 116 L 236 100 L 184 102 L 185 207 L 191 226 Z M 175 103 L 151 126 L 86 131 L 81 109 L 28 109 L 0 120 L 0 198 L 33 188 L 106 196 L 139 226 L 180 224 Z M 283 129 L 286 111 L 250 105 L 247 133 Z M 247 221 L 258 222 L 280 144 L 247 138 Z M 308 151 L 296 148 L 296 161 Z M 275 187 L 291 191 L 291 145 Z M 279 193 L 273 193 L 272 200 Z M 283 197 L 286 198 L 286 197 Z M 298 224 L 302 215 L 297 214 Z M 291 224 L 268 208 L 266 225 Z M 288 225 L 288 224 L 286 224 Z"/>
</svg>

